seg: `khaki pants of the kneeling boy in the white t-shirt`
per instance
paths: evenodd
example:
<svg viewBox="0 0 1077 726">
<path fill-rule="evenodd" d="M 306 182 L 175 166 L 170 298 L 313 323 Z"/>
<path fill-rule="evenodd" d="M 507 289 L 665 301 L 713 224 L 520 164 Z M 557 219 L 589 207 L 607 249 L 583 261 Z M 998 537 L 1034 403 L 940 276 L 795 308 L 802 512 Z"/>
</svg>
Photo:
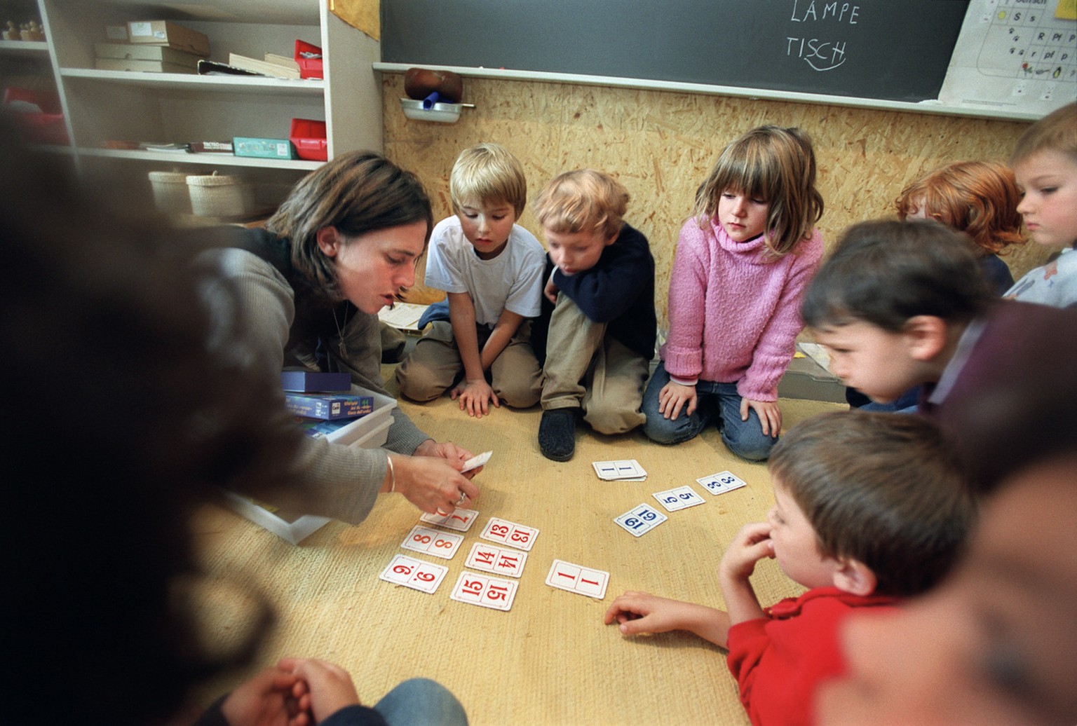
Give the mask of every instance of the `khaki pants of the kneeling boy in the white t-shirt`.
<svg viewBox="0 0 1077 726">
<path fill-rule="evenodd" d="M 479 350 L 490 331 L 478 326 Z M 464 371 L 457 348 L 452 324 L 445 320 L 431 323 L 431 330 L 416 344 L 396 368 L 401 393 L 412 401 L 433 401 L 452 388 Z M 531 348 L 531 323 L 524 321 L 501 354 L 490 365 L 488 378 L 498 399 L 513 408 L 528 408 L 538 402 L 542 369 Z"/>
</svg>

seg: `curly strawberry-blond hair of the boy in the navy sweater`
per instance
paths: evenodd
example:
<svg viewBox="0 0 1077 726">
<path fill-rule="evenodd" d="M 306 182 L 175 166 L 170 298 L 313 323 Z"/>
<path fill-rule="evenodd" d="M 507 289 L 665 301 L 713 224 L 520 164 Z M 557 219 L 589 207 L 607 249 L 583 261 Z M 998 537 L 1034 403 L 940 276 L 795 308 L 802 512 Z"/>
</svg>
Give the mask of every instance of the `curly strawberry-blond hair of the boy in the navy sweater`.
<svg viewBox="0 0 1077 726">
<path fill-rule="evenodd" d="M 558 174 L 535 199 L 538 224 L 561 233 L 600 231 L 605 238 L 620 233 L 628 192 L 613 177 L 595 169 Z"/>
</svg>

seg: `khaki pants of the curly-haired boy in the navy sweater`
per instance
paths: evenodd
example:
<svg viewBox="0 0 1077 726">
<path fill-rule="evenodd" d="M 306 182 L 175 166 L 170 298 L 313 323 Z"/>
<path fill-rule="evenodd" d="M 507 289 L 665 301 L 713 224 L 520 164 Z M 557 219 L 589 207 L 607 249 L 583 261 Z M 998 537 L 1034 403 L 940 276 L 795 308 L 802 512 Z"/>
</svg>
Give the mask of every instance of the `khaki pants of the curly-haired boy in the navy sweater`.
<svg viewBox="0 0 1077 726">
<path fill-rule="evenodd" d="M 563 293 L 549 321 L 543 410 L 582 408 L 584 420 L 603 434 L 619 434 L 641 425 L 643 385 L 649 361 L 605 334 Z"/>
</svg>

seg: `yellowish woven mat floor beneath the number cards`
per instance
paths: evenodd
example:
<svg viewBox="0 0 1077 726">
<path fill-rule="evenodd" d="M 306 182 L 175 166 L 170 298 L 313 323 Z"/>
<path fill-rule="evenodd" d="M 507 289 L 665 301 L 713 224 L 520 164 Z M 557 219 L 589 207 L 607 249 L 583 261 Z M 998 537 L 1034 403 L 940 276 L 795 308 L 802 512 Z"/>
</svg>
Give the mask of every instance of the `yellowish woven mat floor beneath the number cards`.
<svg viewBox="0 0 1077 726">
<path fill-rule="evenodd" d="M 844 407 L 780 405 L 785 428 Z M 479 516 L 461 552 L 442 560 L 402 549 L 420 512 L 396 494 L 380 495 L 362 525 L 331 522 L 298 546 L 207 505 L 196 521 L 213 578 L 207 638 L 222 646 L 238 642 L 251 619 L 252 592 L 272 604 L 277 624 L 251 669 L 210 684 L 206 702 L 278 657 L 304 655 L 347 668 L 364 703 L 404 679 L 437 680 L 478 726 L 749 723 L 722 648 L 682 632 L 625 639 L 602 615 L 627 589 L 722 606 L 716 570 L 724 544 L 772 503 L 765 465 L 730 455 L 714 429 L 662 447 L 640 432 L 606 437 L 586 425 L 577 430 L 575 457 L 558 463 L 538 451 L 537 407 L 500 409 L 481 420 L 468 419 L 448 397 L 402 401 L 401 407 L 437 439 L 493 451 L 475 479 Z M 591 462 L 615 459 L 637 459 L 646 480 L 600 480 Z M 696 483 L 726 470 L 747 486 L 715 497 Z M 640 537 L 614 523 L 640 503 L 657 506 L 654 492 L 683 485 L 705 503 L 665 513 L 669 519 Z M 538 529 L 508 612 L 449 598 L 489 517 Z M 397 553 L 449 568 L 435 594 L 379 580 Z M 605 597 L 546 585 L 554 559 L 609 572 Z M 770 560 L 759 563 L 753 583 L 765 604 L 802 590 Z"/>
</svg>

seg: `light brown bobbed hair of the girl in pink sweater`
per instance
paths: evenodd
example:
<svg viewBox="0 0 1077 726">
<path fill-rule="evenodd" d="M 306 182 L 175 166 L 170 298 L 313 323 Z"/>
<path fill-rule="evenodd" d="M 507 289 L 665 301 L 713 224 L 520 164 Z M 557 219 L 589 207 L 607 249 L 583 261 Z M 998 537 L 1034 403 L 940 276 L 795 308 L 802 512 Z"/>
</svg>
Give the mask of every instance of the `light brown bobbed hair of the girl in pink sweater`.
<svg viewBox="0 0 1077 726">
<path fill-rule="evenodd" d="M 811 237 L 823 217 L 823 195 L 815 189 L 815 152 L 799 128 L 759 126 L 731 141 L 696 192 L 693 217 L 705 228 L 718 199 L 735 190 L 766 200 L 766 243 L 770 260 L 793 251 Z"/>
</svg>

